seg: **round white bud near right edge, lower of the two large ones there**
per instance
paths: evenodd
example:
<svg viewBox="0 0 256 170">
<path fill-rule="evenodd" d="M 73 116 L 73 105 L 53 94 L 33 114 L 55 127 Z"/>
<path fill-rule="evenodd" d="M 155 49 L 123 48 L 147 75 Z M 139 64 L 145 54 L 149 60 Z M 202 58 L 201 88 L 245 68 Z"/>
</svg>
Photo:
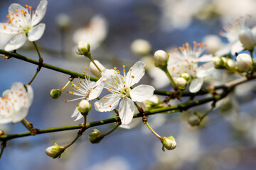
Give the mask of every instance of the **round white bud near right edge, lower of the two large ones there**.
<svg viewBox="0 0 256 170">
<path fill-rule="evenodd" d="M 248 54 L 240 54 L 236 57 L 236 60 L 235 65 L 240 72 L 248 72 L 250 67 L 252 67 L 252 58 Z"/>
</svg>

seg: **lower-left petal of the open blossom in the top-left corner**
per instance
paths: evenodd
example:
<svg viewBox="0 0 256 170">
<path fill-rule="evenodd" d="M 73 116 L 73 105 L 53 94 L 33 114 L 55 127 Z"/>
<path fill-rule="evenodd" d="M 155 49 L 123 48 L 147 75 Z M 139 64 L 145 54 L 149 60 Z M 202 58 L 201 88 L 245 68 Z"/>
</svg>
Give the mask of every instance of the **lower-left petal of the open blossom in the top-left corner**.
<svg viewBox="0 0 256 170">
<path fill-rule="evenodd" d="M 26 35 L 25 34 L 18 34 L 14 38 L 11 38 L 7 45 L 4 47 L 6 51 L 17 50 L 18 48 L 22 47 L 26 42 Z"/>
</svg>

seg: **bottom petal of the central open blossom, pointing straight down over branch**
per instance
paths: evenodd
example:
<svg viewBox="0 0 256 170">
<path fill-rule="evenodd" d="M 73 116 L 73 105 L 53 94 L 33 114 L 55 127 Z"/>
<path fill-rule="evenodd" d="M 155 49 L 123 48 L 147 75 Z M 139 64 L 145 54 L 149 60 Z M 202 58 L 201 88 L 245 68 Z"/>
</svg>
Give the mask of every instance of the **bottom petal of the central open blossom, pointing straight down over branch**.
<svg viewBox="0 0 256 170">
<path fill-rule="evenodd" d="M 122 124 L 127 125 L 132 121 L 134 115 L 134 103 L 130 98 L 123 98 L 119 106 L 119 117 Z"/>
</svg>

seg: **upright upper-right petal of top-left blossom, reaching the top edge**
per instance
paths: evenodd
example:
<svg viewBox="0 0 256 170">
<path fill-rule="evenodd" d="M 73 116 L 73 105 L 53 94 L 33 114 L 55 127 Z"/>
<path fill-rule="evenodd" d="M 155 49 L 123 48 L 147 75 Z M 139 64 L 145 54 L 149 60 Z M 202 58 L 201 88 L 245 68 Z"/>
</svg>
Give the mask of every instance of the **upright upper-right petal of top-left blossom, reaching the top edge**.
<svg viewBox="0 0 256 170">
<path fill-rule="evenodd" d="M 46 0 L 42 0 L 40 4 L 38 4 L 35 13 L 32 16 L 32 26 L 36 26 L 36 24 L 38 24 L 43 19 L 43 16 L 46 14 L 47 4 L 48 2 Z"/>
</svg>

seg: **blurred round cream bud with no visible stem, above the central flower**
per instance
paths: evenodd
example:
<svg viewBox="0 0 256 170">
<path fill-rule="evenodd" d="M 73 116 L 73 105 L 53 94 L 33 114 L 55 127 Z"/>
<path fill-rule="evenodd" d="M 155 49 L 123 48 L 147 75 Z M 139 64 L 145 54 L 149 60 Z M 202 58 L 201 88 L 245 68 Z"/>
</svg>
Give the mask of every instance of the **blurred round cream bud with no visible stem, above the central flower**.
<svg viewBox="0 0 256 170">
<path fill-rule="evenodd" d="M 131 44 L 131 50 L 137 55 L 148 55 L 151 52 L 151 45 L 147 40 L 137 39 Z"/>
</svg>

